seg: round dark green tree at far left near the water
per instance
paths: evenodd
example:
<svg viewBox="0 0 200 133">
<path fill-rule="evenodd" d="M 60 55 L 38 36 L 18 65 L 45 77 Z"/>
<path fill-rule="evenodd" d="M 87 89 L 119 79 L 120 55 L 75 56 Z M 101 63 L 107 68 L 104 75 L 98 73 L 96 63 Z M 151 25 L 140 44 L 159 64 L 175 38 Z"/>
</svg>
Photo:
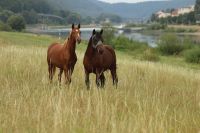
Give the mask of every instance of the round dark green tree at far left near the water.
<svg viewBox="0 0 200 133">
<path fill-rule="evenodd" d="M 16 31 L 25 29 L 25 20 L 21 15 L 12 15 L 8 18 L 8 24 Z"/>
</svg>

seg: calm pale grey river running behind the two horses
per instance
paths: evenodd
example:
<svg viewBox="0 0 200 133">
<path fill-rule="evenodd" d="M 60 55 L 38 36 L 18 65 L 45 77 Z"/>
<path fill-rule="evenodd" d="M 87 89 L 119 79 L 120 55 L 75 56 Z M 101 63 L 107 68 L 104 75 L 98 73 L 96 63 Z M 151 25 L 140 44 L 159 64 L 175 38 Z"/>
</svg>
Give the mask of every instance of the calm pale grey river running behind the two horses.
<svg viewBox="0 0 200 133">
<path fill-rule="evenodd" d="M 81 28 L 81 38 L 83 40 L 89 40 L 91 34 L 92 34 L 92 30 L 94 28 Z M 101 28 L 95 28 L 96 30 L 100 30 Z M 137 28 L 136 28 L 137 29 Z M 56 28 L 56 29 L 46 29 L 46 30 L 40 30 L 40 29 L 27 29 L 27 32 L 32 32 L 32 33 L 37 33 L 37 34 L 48 34 L 48 35 L 54 35 L 57 36 L 59 38 L 65 38 L 67 37 L 67 35 L 69 34 L 69 32 L 71 31 L 71 28 Z M 162 32 L 160 33 L 160 35 L 162 34 Z M 124 35 L 129 39 L 135 40 L 135 41 L 139 41 L 139 42 L 145 42 L 147 43 L 150 47 L 156 47 L 157 46 L 157 42 L 159 39 L 159 35 L 155 35 L 155 34 L 143 34 L 140 31 L 129 31 L 129 32 L 124 32 L 123 30 L 118 30 L 116 32 L 116 36 L 119 35 Z M 180 37 L 186 36 L 185 33 L 184 34 L 177 34 Z M 190 36 L 193 40 L 197 40 L 199 39 L 199 36 L 195 36 L 195 35 L 187 35 Z"/>
</svg>

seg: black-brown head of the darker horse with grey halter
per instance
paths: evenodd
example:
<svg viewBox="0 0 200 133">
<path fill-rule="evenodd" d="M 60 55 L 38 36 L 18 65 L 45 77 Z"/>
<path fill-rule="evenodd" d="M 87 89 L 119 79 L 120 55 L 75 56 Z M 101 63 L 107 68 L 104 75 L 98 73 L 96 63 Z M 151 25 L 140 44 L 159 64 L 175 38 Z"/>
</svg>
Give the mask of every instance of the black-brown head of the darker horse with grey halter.
<svg viewBox="0 0 200 133">
<path fill-rule="evenodd" d="M 92 37 L 91 37 L 91 41 L 92 41 L 92 47 L 98 51 L 98 53 L 102 54 L 103 53 L 103 49 L 101 46 L 103 46 L 103 29 L 101 29 L 100 32 L 97 32 L 95 29 L 92 32 Z"/>
</svg>

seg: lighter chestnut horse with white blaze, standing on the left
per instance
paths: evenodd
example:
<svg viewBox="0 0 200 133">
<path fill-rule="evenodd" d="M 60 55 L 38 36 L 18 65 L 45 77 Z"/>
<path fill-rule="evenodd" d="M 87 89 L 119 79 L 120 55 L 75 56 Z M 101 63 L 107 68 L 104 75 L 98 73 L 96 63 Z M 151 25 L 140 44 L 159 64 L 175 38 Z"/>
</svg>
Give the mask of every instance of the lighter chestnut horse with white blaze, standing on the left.
<svg viewBox="0 0 200 133">
<path fill-rule="evenodd" d="M 74 24 L 72 24 L 72 31 L 68 39 L 65 40 L 64 45 L 53 43 L 49 46 L 47 52 L 47 63 L 49 79 L 51 82 L 57 67 L 60 69 L 60 73 L 58 74 L 59 83 L 61 83 L 63 71 L 65 74 L 66 84 L 71 83 L 71 75 L 77 61 L 77 56 L 75 53 L 76 42 L 81 42 L 80 34 L 80 24 L 77 28 L 75 28 Z"/>
</svg>

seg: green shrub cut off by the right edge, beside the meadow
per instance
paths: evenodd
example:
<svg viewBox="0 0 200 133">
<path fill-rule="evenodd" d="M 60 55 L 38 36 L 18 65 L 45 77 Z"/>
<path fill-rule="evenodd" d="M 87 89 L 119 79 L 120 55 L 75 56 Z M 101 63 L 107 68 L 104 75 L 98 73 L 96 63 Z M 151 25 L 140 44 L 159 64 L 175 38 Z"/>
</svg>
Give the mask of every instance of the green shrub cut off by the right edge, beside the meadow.
<svg viewBox="0 0 200 133">
<path fill-rule="evenodd" d="M 185 53 L 185 60 L 190 63 L 200 64 L 200 48 L 187 51 Z"/>
</svg>

